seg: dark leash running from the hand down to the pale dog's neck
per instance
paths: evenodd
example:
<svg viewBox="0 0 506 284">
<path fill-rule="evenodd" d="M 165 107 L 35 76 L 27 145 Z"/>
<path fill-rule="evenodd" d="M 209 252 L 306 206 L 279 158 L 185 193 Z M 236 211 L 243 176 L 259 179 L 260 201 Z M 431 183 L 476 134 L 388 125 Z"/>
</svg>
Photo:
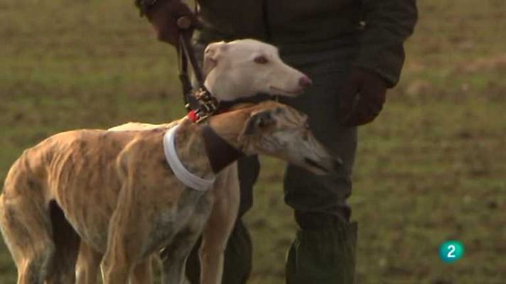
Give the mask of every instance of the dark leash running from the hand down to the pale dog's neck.
<svg viewBox="0 0 506 284">
<path fill-rule="evenodd" d="M 178 75 L 183 87 L 183 101 L 185 102 L 185 108 L 188 110 L 188 119 L 200 124 L 201 122 L 208 119 L 209 116 L 214 114 L 220 103 L 215 97 L 209 92 L 204 85 L 204 75 L 200 66 L 198 65 L 197 58 L 195 58 L 195 52 L 193 46 L 190 43 L 191 33 L 190 28 L 192 26 L 191 19 L 188 16 L 178 18 L 177 25 L 179 28 L 179 46 L 178 46 Z M 188 75 L 188 63 L 193 70 L 193 75 L 197 80 L 198 89 L 194 92 Z M 189 98 L 195 100 L 195 106 L 192 106 L 192 102 L 189 102 Z"/>
</svg>

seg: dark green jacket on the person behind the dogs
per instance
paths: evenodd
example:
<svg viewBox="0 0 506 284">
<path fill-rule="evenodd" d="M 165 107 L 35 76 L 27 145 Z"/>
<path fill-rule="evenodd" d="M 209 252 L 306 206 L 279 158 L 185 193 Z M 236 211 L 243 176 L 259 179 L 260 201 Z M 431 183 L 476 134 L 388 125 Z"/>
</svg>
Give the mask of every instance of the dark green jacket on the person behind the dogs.
<svg viewBox="0 0 506 284">
<path fill-rule="evenodd" d="M 258 38 L 281 47 L 329 48 L 353 38 L 355 64 L 397 84 L 416 0 L 198 0 L 200 40 Z"/>
</svg>

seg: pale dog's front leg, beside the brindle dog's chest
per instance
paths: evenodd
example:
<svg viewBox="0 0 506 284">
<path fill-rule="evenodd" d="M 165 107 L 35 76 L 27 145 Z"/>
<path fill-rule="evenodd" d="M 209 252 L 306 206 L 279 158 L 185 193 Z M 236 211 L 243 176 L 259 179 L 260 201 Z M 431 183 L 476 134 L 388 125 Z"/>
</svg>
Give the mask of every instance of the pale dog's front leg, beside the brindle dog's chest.
<svg viewBox="0 0 506 284">
<path fill-rule="evenodd" d="M 218 176 L 215 203 L 203 231 L 200 246 L 200 283 L 221 284 L 227 240 L 239 211 L 239 180 L 237 163 L 230 165 Z"/>
</svg>

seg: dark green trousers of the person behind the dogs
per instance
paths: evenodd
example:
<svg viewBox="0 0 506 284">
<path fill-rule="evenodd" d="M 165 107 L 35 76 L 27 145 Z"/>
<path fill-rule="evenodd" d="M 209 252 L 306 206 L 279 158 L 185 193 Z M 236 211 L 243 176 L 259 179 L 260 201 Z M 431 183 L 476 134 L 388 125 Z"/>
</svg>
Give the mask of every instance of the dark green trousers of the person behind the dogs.
<svg viewBox="0 0 506 284">
<path fill-rule="evenodd" d="M 280 48 L 285 62 L 313 80 L 303 95 L 281 101 L 308 114 L 316 138 L 344 163 L 343 169 L 328 176 L 313 175 L 294 165 L 286 168 L 284 200 L 294 209 L 299 227 L 286 260 L 287 284 L 353 283 L 357 224 L 349 221 L 346 200 L 352 188 L 357 129 L 340 126 L 343 118 L 338 109 L 340 90 L 356 52 L 353 43 L 329 50 Z M 225 252 L 223 284 L 246 283 L 251 272 L 252 243 L 240 217 L 252 206 L 258 170 L 257 158 L 239 160 L 241 207 Z M 191 283 L 198 283 L 197 249 L 188 259 L 187 274 Z"/>
</svg>

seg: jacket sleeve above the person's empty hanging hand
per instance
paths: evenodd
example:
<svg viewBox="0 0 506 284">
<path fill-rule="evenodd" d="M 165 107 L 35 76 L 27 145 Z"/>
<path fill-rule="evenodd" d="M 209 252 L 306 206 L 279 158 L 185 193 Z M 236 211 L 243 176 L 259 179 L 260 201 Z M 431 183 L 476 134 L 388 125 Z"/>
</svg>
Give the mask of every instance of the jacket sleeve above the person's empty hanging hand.
<svg viewBox="0 0 506 284">
<path fill-rule="evenodd" d="M 413 33 L 416 0 L 364 0 L 364 29 L 355 65 L 381 75 L 389 87 L 399 82 L 404 40 Z"/>
</svg>

